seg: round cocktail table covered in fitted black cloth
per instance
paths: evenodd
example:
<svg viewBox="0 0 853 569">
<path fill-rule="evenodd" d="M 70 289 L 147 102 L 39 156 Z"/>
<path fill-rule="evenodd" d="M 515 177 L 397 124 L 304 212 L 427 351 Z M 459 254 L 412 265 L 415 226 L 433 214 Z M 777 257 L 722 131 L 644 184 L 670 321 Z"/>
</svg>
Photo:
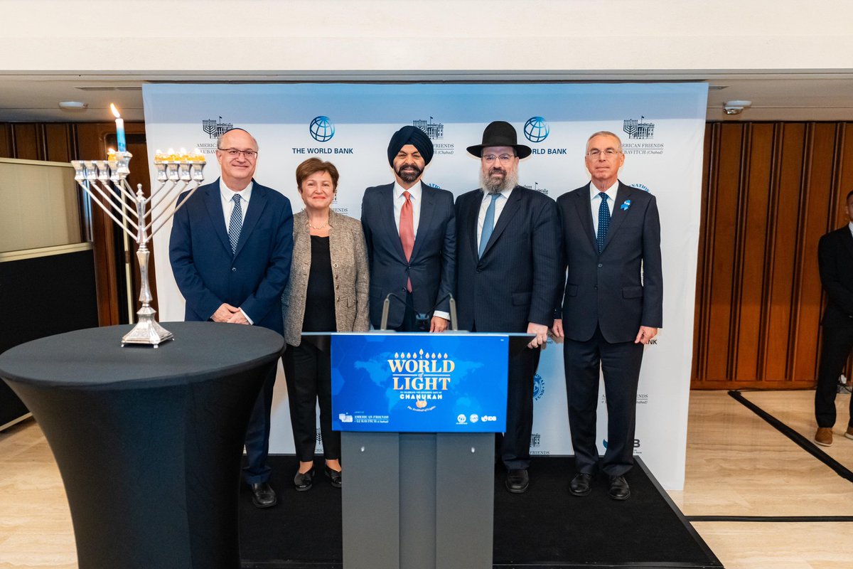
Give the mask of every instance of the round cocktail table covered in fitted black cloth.
<svg viewBox="0 0 853 569">
<path fill-rule="evenodd" d="M 237 500 L 252 404 L 284 340 L 266 328 L 169 322 L 18 345 L 0 377 L 32 410 L 68 496 L 80 569 L 240 566 Z"/>
</svg>

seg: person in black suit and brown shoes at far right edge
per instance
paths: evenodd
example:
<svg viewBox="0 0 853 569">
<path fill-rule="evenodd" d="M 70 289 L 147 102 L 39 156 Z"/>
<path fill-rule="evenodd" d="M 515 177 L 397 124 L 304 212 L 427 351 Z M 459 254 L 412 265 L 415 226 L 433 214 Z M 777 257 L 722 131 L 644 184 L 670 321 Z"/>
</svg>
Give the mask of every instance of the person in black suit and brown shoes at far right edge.
<svg viewBox="0 0 853 569">
<path fill-rule="evenodd" d="M 850 223 L 823 235 L 817 244 L 817 265 L 828 297 L 821 320 L 823 346 L 815 389 L 815 443 L 823 446 L 833 444 L 838 376 L 853 350 L 853 191 L 845 204 Z M 853 398 L 847 421 L 844 436 L 853 438 Z"/>
</svg>

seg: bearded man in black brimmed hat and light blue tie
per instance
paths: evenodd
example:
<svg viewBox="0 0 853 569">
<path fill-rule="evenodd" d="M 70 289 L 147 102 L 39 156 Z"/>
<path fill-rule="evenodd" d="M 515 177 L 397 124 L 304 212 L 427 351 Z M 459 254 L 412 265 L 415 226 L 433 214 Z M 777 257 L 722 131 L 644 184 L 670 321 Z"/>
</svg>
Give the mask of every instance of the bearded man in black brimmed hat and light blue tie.
<svg viewBox="0 0 853 569">
<path fill-rule="evenodd" d="M 560 220 L 554 200 L 519 186 L 519 159 L 531 148 L 517 143 L 513 125 L 491 123 L 483 143 L 467 150 L 480 159 L 480 189 L 456 200 L 459 327 L 536 335 L 509 358 L 499 439 L 507 490 L 521 493 L 530 484 L 533 376 L 559 300 Z"/>
</svg>

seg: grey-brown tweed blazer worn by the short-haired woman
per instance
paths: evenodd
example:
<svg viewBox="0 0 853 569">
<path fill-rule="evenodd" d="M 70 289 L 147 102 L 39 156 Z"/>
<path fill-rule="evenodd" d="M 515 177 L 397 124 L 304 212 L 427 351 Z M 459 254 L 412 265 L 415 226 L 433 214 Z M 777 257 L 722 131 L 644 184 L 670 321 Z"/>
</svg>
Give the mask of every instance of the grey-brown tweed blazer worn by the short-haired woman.
<svg viewBox="0 0 853 569">
<path fill-rule="evenodd" d="M 353 218 L 330 211 L 328 214 L 328 248 L 334 278 L 334 320 L 339 332 L 367 332 L 370 276 L 368 253 L 362 224 Z M 293 216 L 293 262 L 290 281 L 281 293 L 281 316 L 287 344 L 302 341 L 305 318 L 305 294 L 311 270 L 311 237 L 308 214 Z"/>
</svg>

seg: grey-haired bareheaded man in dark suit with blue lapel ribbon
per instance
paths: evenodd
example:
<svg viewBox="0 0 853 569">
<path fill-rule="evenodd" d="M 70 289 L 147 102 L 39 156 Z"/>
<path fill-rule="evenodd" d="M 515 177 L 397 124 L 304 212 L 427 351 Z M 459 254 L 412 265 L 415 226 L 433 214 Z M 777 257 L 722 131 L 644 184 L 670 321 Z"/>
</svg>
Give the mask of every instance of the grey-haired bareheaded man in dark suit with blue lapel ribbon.
<svg viewBox="0 0 853 569">
<path fill-rule="evenodd" d="M 612 132 L 589 137 L 592 182 L 557 199 L 568 268 L 554 335 L 563 347 L 569 427 L 577 474 L 569 485 L 586 496 L 596 468 L 610 496 L 627 500 L 634 464 L 637 384 L 643 345 L 663 323 L 660 219 L 654 196 L 619 182 L 622 142 Z M 600 371 L 607 399 L 607 444 L 599 461 L 595 411 Z"/>
</svg>

